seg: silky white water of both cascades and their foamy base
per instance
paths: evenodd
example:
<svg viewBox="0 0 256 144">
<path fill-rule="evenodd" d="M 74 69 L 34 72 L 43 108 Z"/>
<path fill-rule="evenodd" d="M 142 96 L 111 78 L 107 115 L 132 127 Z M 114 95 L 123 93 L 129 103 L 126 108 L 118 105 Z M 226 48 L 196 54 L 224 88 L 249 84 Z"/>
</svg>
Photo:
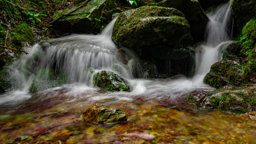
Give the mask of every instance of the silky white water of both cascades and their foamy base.
<svg viewBox="0 0 256 144">
<path fill-rule="evenodd" d="M 33 95 L 29 91 L 35 73 L 49 73 L 52 68 L 65 74 L 67 84 L 36 95 L 51 98 L 65 96 L 69 101 L 86 97 L 92 103 L 109 98 L 132 101 L 138 97 L 145 101 L 165 99 L 163 101 L 174 102 L 194 90 L 214 90 L 204 85 L 202 80 L 211 65 L 222 59 L 223 49 L 231 43 L 231 2 L 216 7 L 207 15 L 210 21 L 206 28 L 205 42 L 196 48 L 196 71 L 192 78 L 179 76 L 175 79 L 147 79 L 147 71 L 135 54 L 112 42 L 112 28 L 116 20 L 113 19 L 99 35 L 74 34 L 26 48 L 29 55 L 22 56 L 11 66 L 13 88 L 0 95 L 0 105 L 17 104 L 30 99 Z M 113 68 L 114 65 L 119 70 Z M 89 76 L 92 69 L 94 73 L 109 70 L 119 74 L 128 81 L 131 92 L 102 92 L 92 84 L 92 77 Z"/>
</svg>

